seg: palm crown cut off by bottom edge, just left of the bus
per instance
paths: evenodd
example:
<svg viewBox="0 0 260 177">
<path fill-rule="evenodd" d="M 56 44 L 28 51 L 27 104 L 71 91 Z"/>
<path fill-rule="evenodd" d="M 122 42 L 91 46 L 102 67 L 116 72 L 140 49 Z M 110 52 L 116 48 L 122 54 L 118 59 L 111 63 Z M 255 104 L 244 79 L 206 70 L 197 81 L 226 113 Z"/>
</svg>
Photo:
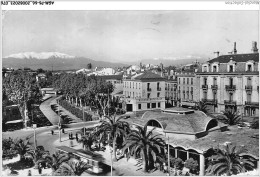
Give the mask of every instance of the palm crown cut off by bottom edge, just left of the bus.
<svg viewBox="0 0 260 177">
<path fill-rule="evenodd" d="M 70 160 L 63 162 L 59 169 L 54 173 L 55 176 L 81 176 L 87 169 L 91 168 L 90 165 L 82 161 Z"/>
</svg>

